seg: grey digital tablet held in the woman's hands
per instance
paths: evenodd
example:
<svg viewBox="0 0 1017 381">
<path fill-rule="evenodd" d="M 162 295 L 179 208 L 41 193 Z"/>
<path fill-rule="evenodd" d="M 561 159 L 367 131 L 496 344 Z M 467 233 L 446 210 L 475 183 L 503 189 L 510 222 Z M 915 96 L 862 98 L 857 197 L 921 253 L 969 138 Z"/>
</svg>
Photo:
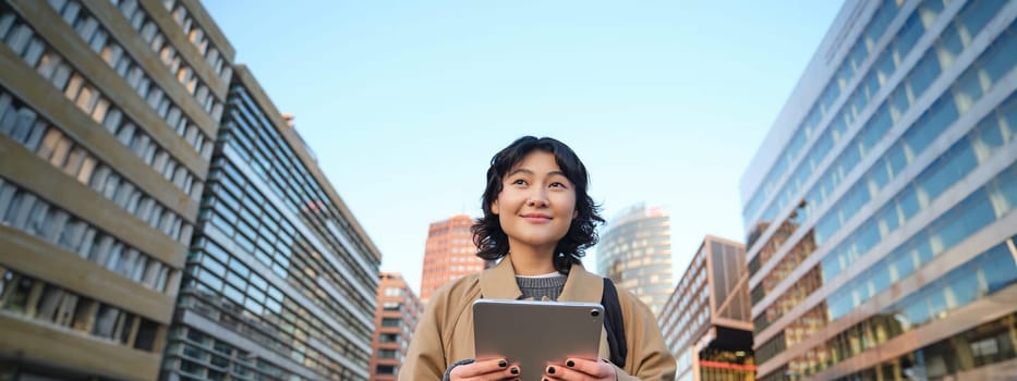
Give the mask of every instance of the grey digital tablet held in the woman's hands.
<svg viewBox="0 0 1017 381">
<path fill-rule="evenodd" d="M 596 360 L 604 327 L 597 303 L 476 299 L 473 340 L 476 359 L 507 358 L 520 379 L 540 380 L 547 362 Z"/>
</svg>

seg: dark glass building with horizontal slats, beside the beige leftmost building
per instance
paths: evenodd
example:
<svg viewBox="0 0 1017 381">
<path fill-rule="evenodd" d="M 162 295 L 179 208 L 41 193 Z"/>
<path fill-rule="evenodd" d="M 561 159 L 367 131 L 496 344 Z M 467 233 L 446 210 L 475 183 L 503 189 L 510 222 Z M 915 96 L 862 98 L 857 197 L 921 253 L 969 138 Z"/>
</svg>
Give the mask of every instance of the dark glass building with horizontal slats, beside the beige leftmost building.
<svg viewBox="0 0 1017 381">
<path fill-rule="evenodd" d="M 243 65 L 202 201 L 166 380 L 366 380 L 380 256 Z"/>
</svg>

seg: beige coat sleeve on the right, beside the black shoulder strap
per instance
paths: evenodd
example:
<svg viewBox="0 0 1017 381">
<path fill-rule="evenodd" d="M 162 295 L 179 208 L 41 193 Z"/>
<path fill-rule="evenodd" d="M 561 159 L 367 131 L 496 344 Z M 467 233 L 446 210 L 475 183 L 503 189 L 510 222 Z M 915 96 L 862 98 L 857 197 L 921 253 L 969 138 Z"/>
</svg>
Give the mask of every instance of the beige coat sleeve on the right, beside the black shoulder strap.
<svg viewBox="0 0 1017 381">
<path fill-rule="evenodd" d="M 619 291 L 619 296 L 622 294 L 628 356 L 625 369 L 616 369 L 618 380 L 674 380 L 678 365 L 664 343 L 656 318 L 638 297 Z"/>
</svg>

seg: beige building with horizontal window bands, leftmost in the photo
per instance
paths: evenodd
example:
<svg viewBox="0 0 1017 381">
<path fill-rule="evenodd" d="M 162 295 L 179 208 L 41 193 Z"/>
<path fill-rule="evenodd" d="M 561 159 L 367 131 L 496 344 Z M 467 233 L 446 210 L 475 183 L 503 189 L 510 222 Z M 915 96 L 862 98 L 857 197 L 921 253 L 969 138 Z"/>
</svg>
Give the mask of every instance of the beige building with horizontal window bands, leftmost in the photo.
<svg viewBox="0 0 1017 381">
<path fill-rule="evenodd" d="M 0 379 L 156 379 L 233 50 L 173 0 L 3 1 L 0 40 Z"/>
</svg>

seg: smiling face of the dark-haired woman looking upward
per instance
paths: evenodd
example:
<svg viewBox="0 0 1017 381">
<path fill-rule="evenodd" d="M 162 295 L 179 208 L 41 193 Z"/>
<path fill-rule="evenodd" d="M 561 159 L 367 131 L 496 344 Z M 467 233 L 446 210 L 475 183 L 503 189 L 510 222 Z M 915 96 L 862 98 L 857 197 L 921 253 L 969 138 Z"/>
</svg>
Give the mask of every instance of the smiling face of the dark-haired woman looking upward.
<svg viewBox="0 0 1017 381">
<path fill-rule="evenodd" d="M 578 216 L 576 188 L 554 153 L 534 150 L 501 179 L 501 193 L 491 210 L 508 235 L 509 250 L 529 246 L 554 251 Z"/>
</svg>

